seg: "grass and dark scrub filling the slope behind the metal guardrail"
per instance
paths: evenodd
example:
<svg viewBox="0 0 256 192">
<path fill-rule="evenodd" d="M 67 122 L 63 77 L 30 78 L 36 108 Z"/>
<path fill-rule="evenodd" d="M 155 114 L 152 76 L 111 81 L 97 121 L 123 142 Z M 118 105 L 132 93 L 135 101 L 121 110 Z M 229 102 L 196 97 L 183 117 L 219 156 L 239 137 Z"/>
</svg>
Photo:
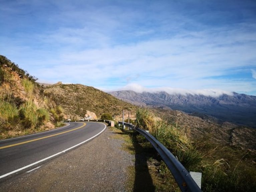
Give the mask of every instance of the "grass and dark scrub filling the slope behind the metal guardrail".
<svg viewBox="0 0 256 192">
<path fill-rule="evenodd" d="M 137 115 L 139 117 L 137 125 L 150 130 L 151 134 L 163 143 L 188 171 L 202 172 L 203 191 L 252 191 L 255 189 L 256 166 L 253 163 L 255 151 L 214 143 L 211 133 L 209 137 L 202 137 L 193 142 L 188 137 L 189 133 L 186 129 L 157 121 L 154 114 L 146 109 L 139 110 Z M 140 144 L 145 147 L 144 150 L 150 149 L 147 141 L 140 140 Z M 169 180 L 171 177 L 165 165 L 161 166 L 161 169 L 155 166 L 157 170 L 164 170 L 160 172 L 159 177 L 163 185 L 157 185 L 160 186 L 160 191 L 165 191 L 175 185 L 175 182 L 172 179 Z M 158 173 L 154 175 L 153 177 L 159 176 Z"/>
</svg>

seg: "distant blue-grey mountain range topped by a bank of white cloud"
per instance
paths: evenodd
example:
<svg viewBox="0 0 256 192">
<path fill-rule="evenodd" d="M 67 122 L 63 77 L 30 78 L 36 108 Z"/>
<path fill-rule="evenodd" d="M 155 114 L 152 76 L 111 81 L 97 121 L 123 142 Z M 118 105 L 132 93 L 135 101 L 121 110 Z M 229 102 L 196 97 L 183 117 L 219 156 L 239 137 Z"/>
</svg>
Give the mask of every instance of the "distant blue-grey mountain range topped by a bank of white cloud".
<svg viewBox="0 0 256 192">
<path fill-rule="evenodd" d="M 256 128 L 256 96 L 222 94 L 218 97 L 193 94 L 168 94 L 167 92 L 114 91 L 113 96 L 140 106 L 168 107 L 204 118 L 217 118 L 237 125 Z"/>
</svg>

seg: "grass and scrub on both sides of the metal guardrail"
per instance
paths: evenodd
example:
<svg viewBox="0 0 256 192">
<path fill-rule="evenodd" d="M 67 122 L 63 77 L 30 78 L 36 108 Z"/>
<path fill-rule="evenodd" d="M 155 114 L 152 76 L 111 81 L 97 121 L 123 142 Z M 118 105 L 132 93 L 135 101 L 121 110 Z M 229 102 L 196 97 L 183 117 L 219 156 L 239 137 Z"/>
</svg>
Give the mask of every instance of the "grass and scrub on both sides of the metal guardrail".
<svg viewBox="0 0 256 192">
<path fill-rule="evenodd" d="M 254 151 L 220 146 L 207 137 L 192 141 L 185 129 L 169 125 L 146 109 L 137 111 L 137 126 L 149 130 L 188 171 L 202 172 L 203 191 L 238 192 L 255 189 Z M 155 191 L 179 191 L 172 174 L 151 144 L 137 133 L 130 131 L 125 133 L 130 135 L 133 143 L 133 147 L 128 145 L 127 148 L 135 151 L 136 156 L 140 158 L 142 158 L 141 155 L 146 157 L 146 162 L 136 160 L 138 164 L 135 169 L 129 168 L 130 176 L 135 177 L 135 183 L 137 176 L 150 173 Z M 148 168 L 145 169 L 145 166 Z M 144 169 L 141 169 L 142 167 Z M 145 178 L 140 177 L 140 181 L 142 179 Z M 140 185 L 138 184 L 137 187 Z"/>
</svg>

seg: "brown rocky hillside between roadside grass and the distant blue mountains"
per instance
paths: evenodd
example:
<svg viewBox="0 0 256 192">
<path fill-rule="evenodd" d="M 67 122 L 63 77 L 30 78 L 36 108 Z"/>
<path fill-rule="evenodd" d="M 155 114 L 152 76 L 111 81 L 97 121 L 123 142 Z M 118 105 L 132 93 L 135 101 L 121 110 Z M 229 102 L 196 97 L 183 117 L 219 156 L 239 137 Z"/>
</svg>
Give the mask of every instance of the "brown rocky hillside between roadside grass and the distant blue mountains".
<svg viewBox="0 0 256 192">
<path fill-rule="evenodd" d="M 256 129 L 238 126 L 229 122 L 218 123 L 217 119 L 192 116 L 168 108 L 152 109 L 159 117 L 175 127 L 184 129 L 192 140 L 209 141 L 221 146 L 256 151 Z"/>
</svg>

